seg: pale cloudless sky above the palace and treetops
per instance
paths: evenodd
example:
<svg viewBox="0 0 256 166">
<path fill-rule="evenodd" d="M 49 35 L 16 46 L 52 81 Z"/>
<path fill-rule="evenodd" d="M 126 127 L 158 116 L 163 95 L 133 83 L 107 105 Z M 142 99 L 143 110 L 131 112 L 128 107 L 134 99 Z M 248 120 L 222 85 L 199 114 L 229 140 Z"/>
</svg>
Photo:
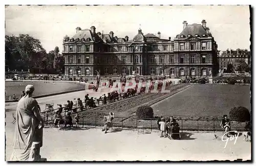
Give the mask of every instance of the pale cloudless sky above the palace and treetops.
<svg viewBox="0 0 256 166">
<path fill-rule="evenodd" d="M 133 39 L 138 29 L 161 33 L 168 39 L 181 33 L 183 21 L 188 24 L 206 20 L 218 50 L 250 50 L 249 6 L 8 6 L 5 8 L 6 35 L 29 34 L 51 51 L 62 39 L 72 37 L 76 27 Z"/>
</svg>

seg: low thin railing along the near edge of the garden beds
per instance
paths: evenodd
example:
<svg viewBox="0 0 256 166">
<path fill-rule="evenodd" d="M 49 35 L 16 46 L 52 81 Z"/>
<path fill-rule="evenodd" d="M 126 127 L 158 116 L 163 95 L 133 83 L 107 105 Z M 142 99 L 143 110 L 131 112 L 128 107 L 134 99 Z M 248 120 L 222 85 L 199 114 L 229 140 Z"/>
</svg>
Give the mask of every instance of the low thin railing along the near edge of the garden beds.
<svg viewBox="0 0 256 166">
<path fill-rule="evenodd" d="M 89 126 L 104 126 L 103 117 L 108 115 L 108 113 L 101 113 L 101 116 L 91 116 L 91 115 L 83 115 L 79 119 L 79 125 L 82 127 Z M 206 119 L 210 117 L 202 117 L 204 119 L 193 119 L 194 117 L 179 117 L 177 118 L 177 122 L 179 123 L 180 131 L 223 131 L 224 129 L 220 126 L 222 117 L 215 117 L 215 119 Z M 45 115 L 44 119 L 46 120 L 46 125 L 48 125 L 49 121 L 53 121 L 53 115 Z M 158 118 L 145 118 L 138 119 L 136 117 L 114 117 L 113 126 L 120 128 L 133 128 L 138 129 L 158 129 L 157 124 Z M 244 131 L 244 127 L 248 122 L 238 122 L 238 121 L 230 121 L 231 130 L 236 131 Z"/>
</svg>

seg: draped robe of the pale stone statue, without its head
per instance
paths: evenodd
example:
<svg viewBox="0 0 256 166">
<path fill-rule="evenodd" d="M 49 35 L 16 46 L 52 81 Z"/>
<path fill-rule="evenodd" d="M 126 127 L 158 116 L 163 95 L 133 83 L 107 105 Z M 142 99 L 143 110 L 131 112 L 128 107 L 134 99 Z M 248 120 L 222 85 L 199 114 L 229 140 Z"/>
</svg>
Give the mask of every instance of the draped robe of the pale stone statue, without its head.
<svg viewBox="0 0 256 166">
<path fill-rule="evenodd" d="M 31 145 L 38 120 L 35 117 L 38 112 L 37 101 L 28 95 L 19 100 L 16 109 L 15 133 L 13 139 L 13 153 L 10 160 L 29 160 Z"/>
</svg>

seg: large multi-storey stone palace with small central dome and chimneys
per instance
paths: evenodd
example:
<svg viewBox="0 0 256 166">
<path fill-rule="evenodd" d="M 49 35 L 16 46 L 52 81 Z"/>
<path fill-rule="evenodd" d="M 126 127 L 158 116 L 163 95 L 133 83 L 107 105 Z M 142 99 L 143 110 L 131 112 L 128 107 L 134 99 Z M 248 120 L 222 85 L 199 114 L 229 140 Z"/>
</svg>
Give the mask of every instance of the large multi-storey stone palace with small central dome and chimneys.
<svg viewBox="0 0 256 166">
<path fill-rule="evenodd" d="M 218 45 L 202 24 L 183 22 L 183 31 L 174 40 L 138 30 L 132 40 L 128 36 L 117 38 L 96 33 L 91 29 L 76 28 L 73 37 L 63 38 L 62 55 L 65 57 L 65 74 L 68 75 L 170 75 L 210 76 L 217 75 Z"/>
</svg>

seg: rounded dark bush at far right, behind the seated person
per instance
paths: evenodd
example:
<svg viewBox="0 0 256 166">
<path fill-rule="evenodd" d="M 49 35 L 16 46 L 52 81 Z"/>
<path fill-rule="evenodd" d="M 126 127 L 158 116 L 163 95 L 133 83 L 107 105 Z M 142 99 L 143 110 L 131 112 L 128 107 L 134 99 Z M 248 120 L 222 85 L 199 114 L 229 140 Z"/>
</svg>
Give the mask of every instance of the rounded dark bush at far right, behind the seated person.
<svg viewBox="0 0 256 166">
<path fill-rule="evenodd" d="M 250 121 L 251 115 L 249 110 L 244 106 L 233 107 L 229 112 L 231 120 L 240 122 Z"/>
</svg>

